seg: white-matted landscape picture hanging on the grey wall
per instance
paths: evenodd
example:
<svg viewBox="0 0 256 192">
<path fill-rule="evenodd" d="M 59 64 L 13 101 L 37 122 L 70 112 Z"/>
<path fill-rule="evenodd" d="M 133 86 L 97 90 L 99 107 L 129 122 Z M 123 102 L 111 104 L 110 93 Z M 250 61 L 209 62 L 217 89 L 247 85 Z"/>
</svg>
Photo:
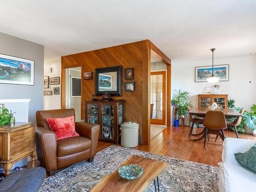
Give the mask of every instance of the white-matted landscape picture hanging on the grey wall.
<svg viewBox="0 0 256 192">
<path fill-rule="evenodd" d="M 0 54 L 0 83 L 34 85 L 34 61 Z"/>
</svg>

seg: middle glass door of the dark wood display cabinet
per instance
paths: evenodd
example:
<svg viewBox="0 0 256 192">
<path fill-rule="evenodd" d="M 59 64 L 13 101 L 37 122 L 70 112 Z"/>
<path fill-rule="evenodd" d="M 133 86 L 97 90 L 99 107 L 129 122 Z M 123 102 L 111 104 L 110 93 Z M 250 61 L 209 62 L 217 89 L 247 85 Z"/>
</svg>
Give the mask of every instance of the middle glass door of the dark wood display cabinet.
<svg viewBox="0 0 256 192">
<path fill-rule="evenodd" d="M 101 104 L 101 138 L 115 139 L 115 114 L 113 104 Z"/>
</svg>

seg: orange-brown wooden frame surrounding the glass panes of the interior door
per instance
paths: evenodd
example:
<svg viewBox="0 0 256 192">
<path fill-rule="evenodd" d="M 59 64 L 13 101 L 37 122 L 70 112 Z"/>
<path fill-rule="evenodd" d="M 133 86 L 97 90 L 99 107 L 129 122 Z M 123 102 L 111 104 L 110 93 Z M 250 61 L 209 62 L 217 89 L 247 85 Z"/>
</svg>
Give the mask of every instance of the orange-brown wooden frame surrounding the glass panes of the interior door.
<svg viewBox="0 0 256 192">
<path fill-rule="evenodd" d="M 150 123 L 151 124 L 156 124 L 156 125 L 166 125 L 166 118 L 165 118 L 165 105 L 166 105 L 166 71 L 154 71 L 151 72 L 150 75 L 163 75 L 163 118 L 162 119 L 151 119 Z"/>
</svg>

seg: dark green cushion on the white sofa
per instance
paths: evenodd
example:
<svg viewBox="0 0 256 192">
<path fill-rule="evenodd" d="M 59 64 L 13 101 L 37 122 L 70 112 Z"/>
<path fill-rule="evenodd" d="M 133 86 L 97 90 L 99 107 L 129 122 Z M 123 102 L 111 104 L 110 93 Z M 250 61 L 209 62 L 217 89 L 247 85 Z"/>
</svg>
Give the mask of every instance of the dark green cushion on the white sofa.
<svg viewBox="0 0 256 192">
<path fill-rule="evenodd" d="M 247 152 L 235 153 L 234 157 L 242 167 L 256 174 L 256 144 L 254 144 Z"/>
</svg>

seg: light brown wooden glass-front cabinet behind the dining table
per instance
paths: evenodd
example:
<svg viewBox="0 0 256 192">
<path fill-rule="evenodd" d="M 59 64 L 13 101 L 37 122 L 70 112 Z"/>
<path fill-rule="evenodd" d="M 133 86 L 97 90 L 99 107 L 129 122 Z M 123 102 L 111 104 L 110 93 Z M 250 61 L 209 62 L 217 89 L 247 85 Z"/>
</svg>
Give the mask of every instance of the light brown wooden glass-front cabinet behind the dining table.
<svg viewBox="0 0 256 192">
<path fill-rule="evenodd" d="M 212 103 L 216 102 L 220 109 L 227 109 L 227 94 L 199 94 L 198 108 L 208 108 Z"/>
</svg>

